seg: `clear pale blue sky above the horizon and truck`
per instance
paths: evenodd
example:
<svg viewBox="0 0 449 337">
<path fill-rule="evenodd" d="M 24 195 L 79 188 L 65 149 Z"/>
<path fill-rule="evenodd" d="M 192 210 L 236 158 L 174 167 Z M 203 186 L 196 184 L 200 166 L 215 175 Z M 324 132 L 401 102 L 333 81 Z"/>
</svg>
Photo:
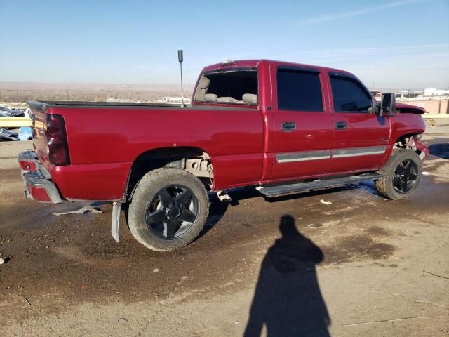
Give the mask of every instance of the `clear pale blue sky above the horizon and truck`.
<svg viewBox="0 0 449 337">
<path fill-rule="evenodd" d="M 0 81 L 185 85 L 267 58 L 449 88 L 449 0 L 0 0 Z"/>
</svg>

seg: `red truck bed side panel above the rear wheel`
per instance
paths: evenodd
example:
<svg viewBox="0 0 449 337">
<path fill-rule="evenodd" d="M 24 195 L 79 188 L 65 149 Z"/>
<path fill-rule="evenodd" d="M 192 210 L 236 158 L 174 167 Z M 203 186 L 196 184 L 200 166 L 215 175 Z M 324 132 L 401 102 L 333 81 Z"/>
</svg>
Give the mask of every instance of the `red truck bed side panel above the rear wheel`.
<svg viewBox="0 0 449 337">
<path fill-rule="evenodd" d="M 154 103 L 28 102 L 34 151 L 70 200 L 120 200 L 131 166 L 154 149 L 196 149 L 213 160 L 214 187 L 257 183 L 263 119 L 257 106 Z M 70 164 L 48 161 L 45 114 L 64 118 Z"/>
</svg>

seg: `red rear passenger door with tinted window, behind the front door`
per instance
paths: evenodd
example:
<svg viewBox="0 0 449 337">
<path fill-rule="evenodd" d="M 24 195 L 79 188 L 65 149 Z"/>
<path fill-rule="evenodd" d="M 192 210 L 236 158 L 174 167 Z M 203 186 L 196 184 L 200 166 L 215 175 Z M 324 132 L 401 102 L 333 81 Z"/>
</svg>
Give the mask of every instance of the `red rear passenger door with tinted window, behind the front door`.
<svg viewBox="0 0 449 337">
<path fill-rule="evenodd" d="M 272 68 L 273 132 L 269 137 L 269 180 L 326 173 L 333 124 L 323 104 L 323 74 L 311 67 Z M 324 75 L 326 76 L 326 75 Z"/>
</svg>

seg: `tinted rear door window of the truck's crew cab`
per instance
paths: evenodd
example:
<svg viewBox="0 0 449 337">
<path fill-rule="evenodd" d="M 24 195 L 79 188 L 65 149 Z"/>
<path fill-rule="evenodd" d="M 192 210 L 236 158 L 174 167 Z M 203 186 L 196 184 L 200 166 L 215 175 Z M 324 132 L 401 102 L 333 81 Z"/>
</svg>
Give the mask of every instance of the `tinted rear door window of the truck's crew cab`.
<svg viewBox="0 0 449 337">
<path fill-rule="evenodd" d="M 279 69 L 277 77 L 279 109 L 323 111 L 319 74 Z"/>
</svg>

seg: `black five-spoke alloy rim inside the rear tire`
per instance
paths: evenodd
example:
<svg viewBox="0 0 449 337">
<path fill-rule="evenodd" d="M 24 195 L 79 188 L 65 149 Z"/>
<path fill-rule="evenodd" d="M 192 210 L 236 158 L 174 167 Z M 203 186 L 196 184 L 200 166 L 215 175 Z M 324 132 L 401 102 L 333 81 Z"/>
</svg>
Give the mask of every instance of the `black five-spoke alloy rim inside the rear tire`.
<svg viewBox="0 0 449 337">
<path fill-rule="evenodd" d="M 192 228 L 198 211 L 198 198 L 189 187 L 168 185 L 149 201 L 145 220 L 156 236 L 177 239 Z"/>
</svg>

